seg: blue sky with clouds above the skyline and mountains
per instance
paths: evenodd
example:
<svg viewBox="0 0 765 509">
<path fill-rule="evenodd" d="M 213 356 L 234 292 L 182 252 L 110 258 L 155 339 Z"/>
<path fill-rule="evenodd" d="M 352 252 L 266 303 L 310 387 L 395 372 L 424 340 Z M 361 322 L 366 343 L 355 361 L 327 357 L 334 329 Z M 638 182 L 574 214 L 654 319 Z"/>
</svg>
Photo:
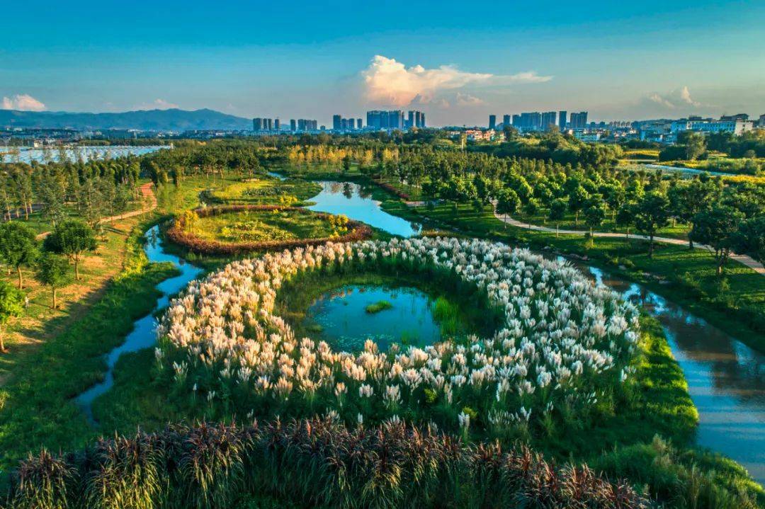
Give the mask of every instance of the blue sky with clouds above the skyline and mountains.
<svg viewBox="0 0 765 509">
<path fill-rule="evenodd" d="M 8 3 L 5 108 L 765 113 L 765 2 Z"/>
</svg>

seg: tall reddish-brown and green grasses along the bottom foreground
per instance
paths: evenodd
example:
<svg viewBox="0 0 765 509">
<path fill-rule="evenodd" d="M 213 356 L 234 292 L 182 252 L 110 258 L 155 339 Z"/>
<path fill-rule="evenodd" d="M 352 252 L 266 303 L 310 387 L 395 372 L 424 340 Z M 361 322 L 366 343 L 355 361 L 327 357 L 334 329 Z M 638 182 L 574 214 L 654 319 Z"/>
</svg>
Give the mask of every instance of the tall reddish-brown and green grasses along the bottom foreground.
<svg viewBox="0 0 765 509">
<path fill-rule="evenodd" d="M 526 448 L 320 418 L 172 426 L 63 456 L 43 451 L 15 472 L 6 507 L 223 509 L 251 494 L 323 507 L 649 507 L 627 484 L 556 468 Z"/>
</svg>

